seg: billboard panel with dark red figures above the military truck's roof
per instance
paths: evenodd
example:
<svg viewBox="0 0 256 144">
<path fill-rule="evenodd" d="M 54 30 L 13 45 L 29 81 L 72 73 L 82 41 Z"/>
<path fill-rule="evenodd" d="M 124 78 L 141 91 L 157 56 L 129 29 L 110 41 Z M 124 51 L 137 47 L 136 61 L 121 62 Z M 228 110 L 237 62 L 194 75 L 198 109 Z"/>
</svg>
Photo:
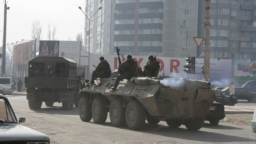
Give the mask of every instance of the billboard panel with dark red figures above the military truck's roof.
<svg viewBox="0 0 256 144">
<path fill-rule="evenodd" d="M 59 41 L 40 40 L 39 57 L 59 57 Z"/>
</svg>

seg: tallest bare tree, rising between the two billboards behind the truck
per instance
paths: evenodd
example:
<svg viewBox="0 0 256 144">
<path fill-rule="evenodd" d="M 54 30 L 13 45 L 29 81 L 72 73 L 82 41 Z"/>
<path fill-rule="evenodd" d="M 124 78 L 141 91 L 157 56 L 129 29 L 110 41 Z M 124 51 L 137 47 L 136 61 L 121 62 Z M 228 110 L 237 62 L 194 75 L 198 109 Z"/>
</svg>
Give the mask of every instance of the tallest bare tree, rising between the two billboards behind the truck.
<svg viewBox="0 0 256 144">
<path fill-rule="evenodd" d="M 32 40 L 37 39 L 36 51 L 39 51 L 39 40 L 42 40 L 42 25 L 39 20 L 32 22 L 31 38 Z"/>
</svg>

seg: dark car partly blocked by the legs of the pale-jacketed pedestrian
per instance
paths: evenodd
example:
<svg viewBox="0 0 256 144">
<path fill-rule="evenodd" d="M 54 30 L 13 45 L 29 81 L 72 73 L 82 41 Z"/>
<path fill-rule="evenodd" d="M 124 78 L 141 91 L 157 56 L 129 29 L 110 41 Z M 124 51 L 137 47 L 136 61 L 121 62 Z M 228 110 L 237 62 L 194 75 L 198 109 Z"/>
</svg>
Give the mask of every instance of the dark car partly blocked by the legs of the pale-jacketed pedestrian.
<svg viewBox="0 0 256 144">
<path fill-rule="evenodd" d="M 219 90 L 219 89 L 213 89 L 213 92 L 215 94 L 215 101 L 219 102 L 223 105 L 228 105 L 229 104 L 229 99 L 230 97 L 228 95 L 225 95 L 223 93 L 223 91 Z M 237 104 L 237 97 L 233 97 L 234 100 L 234 104 Z"/>
</svg>

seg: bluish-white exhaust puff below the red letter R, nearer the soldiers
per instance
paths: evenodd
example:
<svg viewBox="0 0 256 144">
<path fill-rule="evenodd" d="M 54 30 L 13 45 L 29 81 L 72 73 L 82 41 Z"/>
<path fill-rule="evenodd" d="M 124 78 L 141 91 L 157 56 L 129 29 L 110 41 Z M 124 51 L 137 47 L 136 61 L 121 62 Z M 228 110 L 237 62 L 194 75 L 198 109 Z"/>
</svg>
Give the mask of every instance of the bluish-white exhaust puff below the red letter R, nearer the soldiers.
<svg viewBox="0 0 256 144">
<path fill-rule="evenodd" d="M 179 87 L 183 83 L 184 81 L 181 80 L 180 77 L 176 74 L 172 74 L 169 78 L 164 78 L 163 80 L 160 80 L 160 84 L 168 87 Z"/>
</svg>

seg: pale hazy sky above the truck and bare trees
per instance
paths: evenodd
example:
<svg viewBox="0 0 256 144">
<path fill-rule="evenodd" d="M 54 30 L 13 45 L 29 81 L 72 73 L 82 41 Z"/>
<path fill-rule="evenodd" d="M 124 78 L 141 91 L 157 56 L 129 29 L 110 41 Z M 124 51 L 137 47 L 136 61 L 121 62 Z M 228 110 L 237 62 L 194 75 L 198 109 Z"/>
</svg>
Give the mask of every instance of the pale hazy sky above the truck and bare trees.
<svg viewBox="0 0 256 144">
<path fill-rule="evenodd" d="M 47 40 L 48 24 L 55 24 L 58 40 L 76 40 L 77 33 L 84 34 L 85 0 L 6 0 L 7 39 L 6 44 L 22 39 L 31 40 L 33 20 L 39 20 L 43 27 L 43 39 Z M 4 0 L 0 0 L 0 46 L 3 41 Z"/>
</svg>

